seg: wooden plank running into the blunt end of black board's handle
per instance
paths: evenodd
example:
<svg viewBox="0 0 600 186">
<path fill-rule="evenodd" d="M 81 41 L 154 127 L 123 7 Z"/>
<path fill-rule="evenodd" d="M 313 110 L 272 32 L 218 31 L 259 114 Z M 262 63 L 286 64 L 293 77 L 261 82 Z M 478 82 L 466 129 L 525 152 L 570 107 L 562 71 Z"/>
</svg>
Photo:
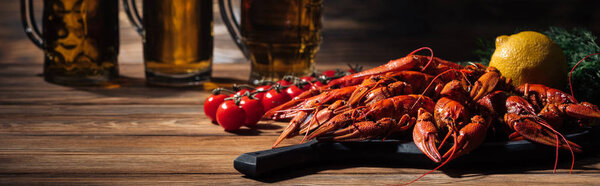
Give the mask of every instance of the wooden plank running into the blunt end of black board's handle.
<svg viewBox="0 0 600 186">
<path fill-rule="evenodd" d="M 236 173 L 237 155 L 0 155 L 0 173 Z"/>
</svg>

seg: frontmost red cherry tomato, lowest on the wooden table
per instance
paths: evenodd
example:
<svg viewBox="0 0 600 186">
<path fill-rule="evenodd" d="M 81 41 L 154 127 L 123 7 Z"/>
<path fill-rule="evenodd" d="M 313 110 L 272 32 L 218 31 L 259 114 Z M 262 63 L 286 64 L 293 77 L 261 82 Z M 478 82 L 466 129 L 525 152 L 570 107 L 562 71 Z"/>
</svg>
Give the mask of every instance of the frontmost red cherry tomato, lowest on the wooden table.
<svg viewBox="0 0 600 186">
<path fill-rule="evenodd" d="M 217 109 L 217 122 L 226 131 L 237 130 L 244 125 L 246 112 L 233 100 L 227 100 Z"/>
</svg>

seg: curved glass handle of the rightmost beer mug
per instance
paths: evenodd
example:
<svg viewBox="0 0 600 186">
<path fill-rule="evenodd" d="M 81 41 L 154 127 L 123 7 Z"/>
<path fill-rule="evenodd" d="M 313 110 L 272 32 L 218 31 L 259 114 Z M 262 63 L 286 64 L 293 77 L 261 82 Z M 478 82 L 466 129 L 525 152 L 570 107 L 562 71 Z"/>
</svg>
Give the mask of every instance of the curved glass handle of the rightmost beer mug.
<svg viewBox="0 0 600 186">
<path fill-rule="evenodd" d="M 240 31 L 240 24 L 235 21 L 235 17 L 233 15 L 233 8 L 231 8 L 231 0 L 219 0 L 219 11 L 221 12 L 221 18 L 223 18 L 223 22 L 225 22 L 225 26 L 227 26 L 227 30 L 229 30 L 229 34 L 233 41 L 240 48 L 244 57 L 246 59 L 250 59 L 250 54 L 248 53 L 248 49 L 242 42 L 242 32 Z"/>
</svg>

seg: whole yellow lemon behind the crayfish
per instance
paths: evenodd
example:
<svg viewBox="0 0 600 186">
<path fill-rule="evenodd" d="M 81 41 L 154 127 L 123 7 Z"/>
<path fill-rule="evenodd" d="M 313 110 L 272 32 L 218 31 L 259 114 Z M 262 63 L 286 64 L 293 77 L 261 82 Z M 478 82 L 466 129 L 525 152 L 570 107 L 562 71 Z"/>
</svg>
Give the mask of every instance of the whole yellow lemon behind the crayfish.
<svg viewBox="0 0 600 186">
<path fill-rule="evenodd" d="M 538 32 L 498 36 L 490 66 L 511 78 L 515 86 L 539 83 L 562 89 L 567 82 L 565 54 L 550 38 Z"/>
</svg>

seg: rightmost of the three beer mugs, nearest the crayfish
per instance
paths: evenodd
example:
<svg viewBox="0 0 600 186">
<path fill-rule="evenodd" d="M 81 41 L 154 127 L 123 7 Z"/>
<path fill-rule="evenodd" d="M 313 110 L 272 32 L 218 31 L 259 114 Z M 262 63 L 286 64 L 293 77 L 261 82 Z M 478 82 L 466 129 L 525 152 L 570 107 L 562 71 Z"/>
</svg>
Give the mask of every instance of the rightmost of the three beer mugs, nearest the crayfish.
<svg viewBox="0 0 600 186">
<path fill-rule="evenodd" d="M 219 7 L 251 62 L 251 81 L 312 73 L 321 44 L 322 0 L 242 0 L 241 24 L 233 17 L 230 0 L 219 0 Z"/>
</svg>

